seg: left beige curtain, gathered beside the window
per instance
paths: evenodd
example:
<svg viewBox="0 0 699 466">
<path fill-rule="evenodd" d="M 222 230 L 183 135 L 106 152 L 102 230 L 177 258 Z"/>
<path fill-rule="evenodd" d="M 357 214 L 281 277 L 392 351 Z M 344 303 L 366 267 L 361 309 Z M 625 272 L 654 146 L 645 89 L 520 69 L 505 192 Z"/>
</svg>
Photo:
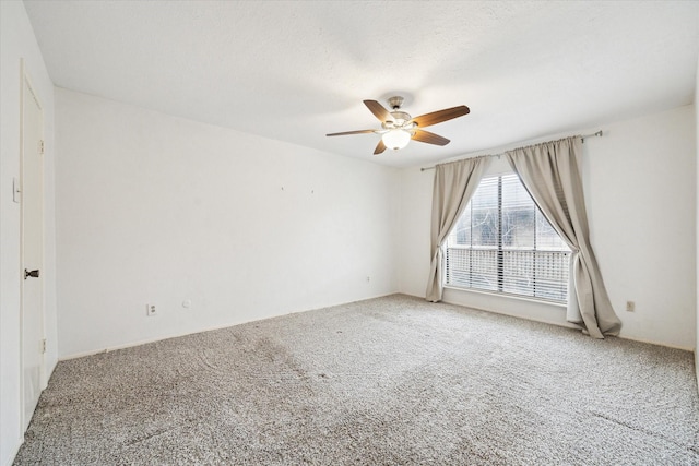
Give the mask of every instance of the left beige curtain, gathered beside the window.
<svg viewBox="0 0 699 466">
<path fill-rule="evenodd" d="M 490 157 L 477 157 L 435 167 L 428 301 L 441 301 L 445 275 L 442 246 L 489 165 Z"/>
</svg>

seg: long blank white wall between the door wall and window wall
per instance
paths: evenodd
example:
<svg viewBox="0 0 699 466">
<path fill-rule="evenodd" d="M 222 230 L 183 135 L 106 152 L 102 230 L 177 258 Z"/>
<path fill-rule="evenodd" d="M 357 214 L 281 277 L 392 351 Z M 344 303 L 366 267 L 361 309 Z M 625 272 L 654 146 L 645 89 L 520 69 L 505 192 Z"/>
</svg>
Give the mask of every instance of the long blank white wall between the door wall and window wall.
<svg viewBox="0 0 699 466">
<path fill-rule="evenodd" d="M 61 88 L 56 103 L 60 357 L 398 290 L 396 169 Z"/>
</svg>

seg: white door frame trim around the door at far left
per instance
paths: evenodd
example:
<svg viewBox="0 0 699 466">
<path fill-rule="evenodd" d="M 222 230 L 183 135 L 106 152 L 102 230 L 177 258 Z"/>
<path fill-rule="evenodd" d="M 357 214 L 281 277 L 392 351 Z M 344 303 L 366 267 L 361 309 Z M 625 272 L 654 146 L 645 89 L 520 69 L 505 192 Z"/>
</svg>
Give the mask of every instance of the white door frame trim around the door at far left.
<svg viewBox="0 0 699 466">
<path fill-rule="evenodd" d="M 25 99 L 24 99 L 24 95 L 25 95 L 25 89 L 27 89 L 32 96 L 34 97 L 34 100 L 36 101 L 36 105 L 39 108 L 39 113 L 40 113 L 40 121 L 39 121 L 39 138 L 40 141 L 45 141 L 44 136 L 45 136 L 45 111 L 44 111 L 44 105 L 42 104 L 42 99 L 39 98 L 39 96 L 37 95 L 34 85 L 32 84 L 32 79 L 26 70 L 26 67 L 24 64 L 24 59 L 21 58 L 20 59 L 20 191 L 21 191 L 21 196 L 20 196 L 20 270 L 17 271 L 17 273 L 20 274 L 20 426 L 22 426 L 22 429 L 24 429 L 25 423 L 28 421 L 28 419 L 25 419 L 25 414 L 24 414 L 24 403 L 25 403 L 25 382 L 24 382 L 24 368 L 25 368 L 25 354 L 24 354 L 24 323 L 25 323 L 25 316 L 24 316 L 24 284 L 25 284 L 25 279 L 24 279 L 24 268 L 25 268 L 25 258 L 24 258 L 24 238 L 25 238 L 25 219 L 26 219 L 26 214 L 25 214 L 25 208 L 26 208 L 26 204 L 24 202 L 24 180 L 25 180 L 25 168 L 24 168 L 24 156 L 25 156 L 25 147 L 24 147 L 24 105 L 25 105 Z M 45 201 L 45 190 L 46 190 L 46 180 L 45 180 L 45 176 L 44 176 L 44 171 L 45 171 L 45 160 L 44 160 L 44 154 L 46 153 L 46 150 L 44 150 L 44 152 L 39 155 L 39 199 L 40 201 L 40 230 L 42 230 L 42 251 L 39 253 L 40 256 L 40 264 L 39 264 L 39 270 L 42 271 L 42 274 L 44 275 L 44 268 L 45 268 L 45 263 L 46 263 L 46 247 L 45 247 L 45 241 L 46 241 L 46 225 L 45 225 L 45 212 L 46 212 L 46 201 Z M 46 342 L 46 328 L 45 328 L 45 321 L 46 321 L 46 275 L 44 275 L 44 277 L 40 280 L 40 292 L 42 292 L 42 297 L 40 297 L 40 309 L 39 309 L 39 322 L 40 322 L 40 328 L 39 328 L 39 335 L 42 336 L 42 339 L 44 342 Z M 42 386 L 42 390 L 46 389 L 47 385 L 47 380 L 46 380 L 46 351 L 44 351 L 40 357 L 40 369 L 39 369 L 39 383 Z"/>
</svg>

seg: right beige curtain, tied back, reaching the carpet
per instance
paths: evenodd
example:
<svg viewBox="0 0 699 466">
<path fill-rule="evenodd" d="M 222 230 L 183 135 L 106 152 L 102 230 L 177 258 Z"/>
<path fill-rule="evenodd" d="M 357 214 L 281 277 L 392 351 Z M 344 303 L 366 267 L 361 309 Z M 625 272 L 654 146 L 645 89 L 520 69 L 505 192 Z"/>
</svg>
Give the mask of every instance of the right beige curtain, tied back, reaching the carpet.
<svg viewBox="0 0 699 466">
<path fill-rule="evenodd" d="M 567 320 L 595 338 L 618 335 L 621 321 L 614 313 L 590 246 L 588 214 L 578 158 L 580 136 L 506 153 L 536 205 L 572 250 Z"/>
</svg>

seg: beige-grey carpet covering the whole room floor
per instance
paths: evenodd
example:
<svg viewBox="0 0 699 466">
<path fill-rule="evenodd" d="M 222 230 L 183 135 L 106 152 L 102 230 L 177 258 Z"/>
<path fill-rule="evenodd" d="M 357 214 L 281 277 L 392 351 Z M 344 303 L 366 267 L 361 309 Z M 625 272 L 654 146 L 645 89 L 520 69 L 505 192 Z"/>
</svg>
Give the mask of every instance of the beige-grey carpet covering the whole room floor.
<svg viewBox="0 0 699 466">
<path fill-rule="evenodd" d="M 692 363 L 396 295 L 60 362 L 15 464 L 697 465 Z"/>
</svg>

